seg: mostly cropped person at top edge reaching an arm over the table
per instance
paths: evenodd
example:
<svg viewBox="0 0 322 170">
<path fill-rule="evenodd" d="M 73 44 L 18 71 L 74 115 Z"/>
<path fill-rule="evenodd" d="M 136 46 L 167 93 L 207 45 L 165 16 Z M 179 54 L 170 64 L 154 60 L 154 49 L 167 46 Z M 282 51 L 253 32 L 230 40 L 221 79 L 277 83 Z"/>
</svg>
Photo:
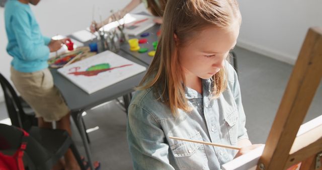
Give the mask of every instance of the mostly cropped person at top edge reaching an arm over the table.
<svg viewBox="0 0 322 170">
<path fill-rule="evenodd" d="M 146 9 L 156 18 L 153 20 L 157 24 L 162 24 L 162 16 L 165 10 L 167 0 L 132 0 L 125 8 L 115 13 L 115 15 L 123 18 L 127 13 L 131 12 L 134 8 L 136 8 L 141 3 L 144 3 Z M 96 32 L 98 29 L 103 27 L 106 24 L 113 22 L 114 19 L 112 16 L 108 17 L 101 23 L 96 23 L 92 21 L 90 26 L 91 32 Z"/>
</svg>

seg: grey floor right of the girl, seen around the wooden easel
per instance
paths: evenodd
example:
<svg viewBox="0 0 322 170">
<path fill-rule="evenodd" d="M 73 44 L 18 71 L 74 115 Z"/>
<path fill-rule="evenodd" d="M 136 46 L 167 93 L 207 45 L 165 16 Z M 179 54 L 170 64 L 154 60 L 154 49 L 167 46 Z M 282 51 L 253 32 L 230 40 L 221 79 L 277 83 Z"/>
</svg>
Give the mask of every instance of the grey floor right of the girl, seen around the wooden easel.
<svg viewBox="0 0 322 170">
<path fill-rule="evenodd" d="M 250 140 L 265 143 L 293 66 L 242 48 L 234 51 Z M 304 122 L 322 115 L 321 104 L 320 83 Z"/>
</svg>

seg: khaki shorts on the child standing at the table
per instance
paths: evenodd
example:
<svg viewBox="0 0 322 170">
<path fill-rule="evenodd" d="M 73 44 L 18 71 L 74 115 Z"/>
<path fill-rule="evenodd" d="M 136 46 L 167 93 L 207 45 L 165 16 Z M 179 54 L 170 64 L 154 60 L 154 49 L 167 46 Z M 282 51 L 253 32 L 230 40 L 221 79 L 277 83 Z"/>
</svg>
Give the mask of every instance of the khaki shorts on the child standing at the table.
<svg viewBox="0 0 322 170">
<path fill-rule="evenodd" d="M 36 117 L 51 122 L 69 113 L 48 68 L 36 72 L 19 72 L 11 67 L 11 80 L 21 97 L 34 109 Z"/>
</svg>

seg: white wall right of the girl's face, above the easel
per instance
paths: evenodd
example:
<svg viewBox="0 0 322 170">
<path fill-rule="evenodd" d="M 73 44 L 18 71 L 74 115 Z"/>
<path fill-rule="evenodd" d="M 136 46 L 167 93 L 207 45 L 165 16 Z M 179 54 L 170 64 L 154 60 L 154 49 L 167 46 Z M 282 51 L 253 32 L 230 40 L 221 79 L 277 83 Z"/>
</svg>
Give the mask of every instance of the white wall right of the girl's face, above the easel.
<svg viewBox="0 0 322 170">
<path fill-rule="evenodd" d="M 322 27 L 322 1 L 238 1 L 238 46 L 294 64 L 307 29 Z"/>
</svg>

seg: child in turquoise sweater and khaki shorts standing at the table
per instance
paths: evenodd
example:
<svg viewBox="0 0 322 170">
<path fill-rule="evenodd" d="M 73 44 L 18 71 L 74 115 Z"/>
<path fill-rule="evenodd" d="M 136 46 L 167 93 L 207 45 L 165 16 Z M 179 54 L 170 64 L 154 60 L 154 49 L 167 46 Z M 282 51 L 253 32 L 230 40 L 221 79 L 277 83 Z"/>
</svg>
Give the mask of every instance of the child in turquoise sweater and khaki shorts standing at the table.
<svg viewBox="0 0 322 170">
<path fill-rule="evenodd" d="M 65 39 L 52 40 L 41 34 L 29 4 L 40 0 L 8 0 L 5 5 L 5 24 L 8 37 L 7 52 L 13 57 L 11 79 L 21 97 L 34 109 L 38 125 L 58 129 L 71 135 L 69 109 L 54 86 L 48 69 L 49 52 L 57 51 Z M 99 167 L 99 162 L 94 166 Z M 80 169 L 70 149 L 53 169 Z"/>
</svg>

